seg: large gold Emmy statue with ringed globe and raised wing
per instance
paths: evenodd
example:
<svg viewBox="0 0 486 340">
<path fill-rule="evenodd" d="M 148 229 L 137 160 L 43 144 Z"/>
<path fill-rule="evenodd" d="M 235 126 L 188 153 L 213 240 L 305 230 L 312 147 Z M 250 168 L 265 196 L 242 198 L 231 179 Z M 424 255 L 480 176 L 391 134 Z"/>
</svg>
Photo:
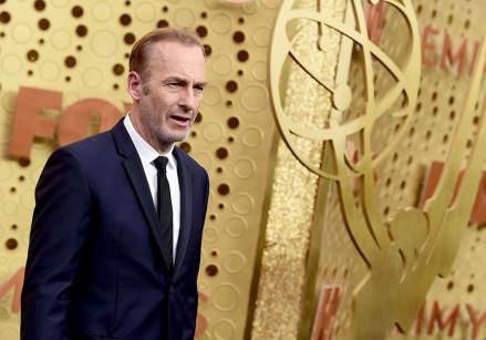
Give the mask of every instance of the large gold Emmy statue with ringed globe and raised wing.
<svg viewBox="0 0 486 340">
<path fill-rule="evenodd" d="M 476 130 L 473 121 L 486 48 L 485 43 L 479 48 L 462 116 L 434 195 L 422 209 L 407 207 L 390 220 L 383 220 L 376 204 L 374 168 L 390 156 L 407 130 L 420 86 L 421 44 L 413 4 L 411 0 L 381 1 L 406 22 L 406 29 L 395 40 L 396 45 L 406 48 L 397 63 L 370 40 L 361 0 L 348 2 L 348 9 L 352 10 L 351 21 L 339 21 L 319 11 L 323 1 L 317 1 L 318 10 L 298 9 L 293 1 L 283 1 L 270 52 L 271 99 L 281 136 L 293 155 L 310 172 L 337 183 L 347 230 L 368 267 L 366 276 L 353 291 L 352 338 L 384 339 L 395 324 L 402 331 L 410 329 L 433 280 L 437 275 L 447 275 L 457 254 L 485 162 L 485 153 L 479 146 L 486 143 L 486 123 L 482 119 Z M 379 0 L 369 2 L 370 6 L 380 3 Z M 334 81 L 329 82 L 319 74 L 322 65 L 312 64 L 311 58 L 302 56 L 302 49 L 299 49 L 302 31 L 294 29 L 298 20 L 312 21 L 318 27 L 316 51 L 308 50 L 308 54 L 332 48 L 327 44 L 323 28 L 342 35 L 338 69 L 342 64 L 349 68 L 351 58 L 343 53 L 347 44 L 360 51 L 365 82 L 364 105 L 360 110 L 352 107 L 355 96 L 361 94 L 353 93 L 349 78 L 340 79 L 337 71 Z M 290 84 L 286 80 L 290 64 L 304 70 L 309 82 L 323 89 L 332 100 L 331 110 L 313 112 L 306 99 L 296 100 L 288 95 Z M 378 66 L 393 80 L 380 91 L 375 87 Z M 289 102 L 289 97 L 293 102 Z M 323 125 L 312 126 L 294 120 L 287 112 L 289 106 L 324 116 Z M 372 136 L 376 132 L 373 128 L 380 119 L 400 123 L 393 138 L 386 145 L 375 147 Z M 474 145 L 467 150 L 472 136 Z M 350 142 L 359 145 L 359 159 L 347 154 Z M 320 163 L 308 159 L 301 152 L 304 143 L 320 143 Z M 463 179 L 457 183 L 462 171 Z M 360 183 L 359 197 L 353 181 Z"/>
</svg>

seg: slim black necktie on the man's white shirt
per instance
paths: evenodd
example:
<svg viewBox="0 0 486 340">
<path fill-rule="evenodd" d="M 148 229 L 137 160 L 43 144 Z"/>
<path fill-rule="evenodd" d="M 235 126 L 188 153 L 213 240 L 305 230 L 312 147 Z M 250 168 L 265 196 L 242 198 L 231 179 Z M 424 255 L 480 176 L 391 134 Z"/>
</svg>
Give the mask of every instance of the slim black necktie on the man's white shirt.
<svg viewBox="0 0 486 340">
<path fill-rule="evenodd" d="M 168 159 L 159 156 L 154 159 L 157 168 L 157 214 L 161 224 L 162 247 L 165 253 L 169 270 L 173 266 L 173 210 L 170 199 L 170 187 L 166 176 L 166 165 Z"/>
</svg>

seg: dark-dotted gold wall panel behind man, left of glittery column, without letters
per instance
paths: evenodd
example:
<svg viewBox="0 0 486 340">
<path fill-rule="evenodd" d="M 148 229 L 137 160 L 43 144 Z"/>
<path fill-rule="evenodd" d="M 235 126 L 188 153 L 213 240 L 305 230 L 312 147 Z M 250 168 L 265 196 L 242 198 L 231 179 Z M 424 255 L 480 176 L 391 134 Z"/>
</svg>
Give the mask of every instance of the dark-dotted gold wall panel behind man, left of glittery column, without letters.
<svg viewBox="0 0 486 340">
<path fill-rule="evenodd" d="M 182 150 L 208 169 L 211 193 L 203 238 L 200 339 L 242 339 L 275 130 L 266 89 L 269 31 L 280 0 L 0 0 L 0 146 L 11 138 L 19 86 L 60 91 L 65 110 L 97 97 L 124 112 L 133 43 L 157 27 L 197 31 L 209 86 Z M 20 14 L 21 13 L 21 14 Z M 46 111 L 54 120 L 63 112 Z M 37 140 L 28 158 L 0 158 L 0 285 L 24 265 L 33 189 L 55 140 Z M 20 179 L 23 178 L 23 179 Z M 0 300 L 0 340 L 19 338 L 13 295 Z M 230 320 L 230 321 L 229 321 Z"/>
</svg>

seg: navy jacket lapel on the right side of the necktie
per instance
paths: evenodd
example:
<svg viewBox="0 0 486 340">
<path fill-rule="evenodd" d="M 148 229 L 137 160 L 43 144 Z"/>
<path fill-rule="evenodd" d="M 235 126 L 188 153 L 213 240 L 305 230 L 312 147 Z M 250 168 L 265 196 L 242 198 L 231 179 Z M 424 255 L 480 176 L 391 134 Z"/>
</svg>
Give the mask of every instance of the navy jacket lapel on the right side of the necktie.
<svg viewBox="0 0 486 340">
<path fill-rule="evenodd" d="M 176 250 L 176 261 L 174 265 L 174 274 L 177 275 L 177 269 L 180 268 L 184 256 L 186 255 L 187 244 L 190 236 L 190 225 L 192 225 L 192 199 L 193 199 L 193 188 L 190 182 L 190 168 L 186 165 L 183 157 L 180 156 L 180 151 L 174 147 L 174 156 L 177 159 L 177 176 L 179 178 L 180 187 L 180 229 L 179 239 L 177 241 Z"/>
</svg>

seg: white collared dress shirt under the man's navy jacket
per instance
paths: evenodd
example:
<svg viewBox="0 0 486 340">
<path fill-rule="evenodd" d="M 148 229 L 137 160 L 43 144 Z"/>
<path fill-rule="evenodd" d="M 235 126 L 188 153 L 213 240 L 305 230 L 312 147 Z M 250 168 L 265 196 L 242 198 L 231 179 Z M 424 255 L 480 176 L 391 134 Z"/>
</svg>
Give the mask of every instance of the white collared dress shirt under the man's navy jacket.
<svg viewBox="0 0 486 340">
<path fill-rule="evenodd" d="M 125 128 L 132 138 L 133 144 L 135 145 L 136 152 L 141 157 L 142 165 L 144 167 L 145 176 L 147 177 L 148 186 L 151 187 L 152 199 L 154 200 L 154 206 L 157 206 L 157 169 L 153 161 L 158 156 L 165 156 L 168 158 L 166 174 L 168 185 L 170 187 L 170 199 L 172 199 L 172 208 L 173 208 L 173 259 L 176 258 L 176 249 L 177 241 L 179 239 L 179 229 L 180 229 L 180 188 L 179 188 L 179 178 L 177 176 L 177 162 L 173 155 L 174 145 L 170 150 L 164 154 L 159 155 L 155 148 L 153 148 L 144 138 L 136 132 L 135 127 L 130 120 L 130 113 L 126 114 L 126 117 L 123 120 L 125 124 Z"/>
</svg>

